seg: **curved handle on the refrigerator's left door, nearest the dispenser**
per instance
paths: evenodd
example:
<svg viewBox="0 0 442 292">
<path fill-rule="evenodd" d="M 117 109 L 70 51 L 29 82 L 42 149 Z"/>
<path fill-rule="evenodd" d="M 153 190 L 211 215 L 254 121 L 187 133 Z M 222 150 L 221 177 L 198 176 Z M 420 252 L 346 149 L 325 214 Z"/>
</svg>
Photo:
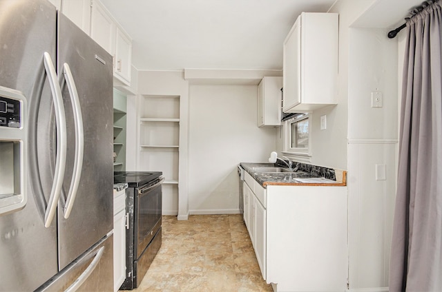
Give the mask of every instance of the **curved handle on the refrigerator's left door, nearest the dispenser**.
<svg viewBox="0 0 442 292">
<path fill-rule="evenodd" d="M 48 74 L 48 81 L 50 91 L 52 92 L 52 99 L 55 107 L 55 121 L 57 124 L 57 159 L 55 162 L 54 181 L 52 189 L 50 190 L 50 197 L 48 207 L 46 208 L 44 216 L 44 226 L 50 227 L 52 218 L 54 218 L 57 211 L 57 204 L 63 185 L 64 170 L 66 168 L 66 116 L 64 114 L 63 96 L 61 96 L 61 88 L 57 81 L 57 73 L 55 72 L 54 64 L 50 59 L 50 54 L 44 52 L 44 67 L 46 74 Z"/>
</svg>

